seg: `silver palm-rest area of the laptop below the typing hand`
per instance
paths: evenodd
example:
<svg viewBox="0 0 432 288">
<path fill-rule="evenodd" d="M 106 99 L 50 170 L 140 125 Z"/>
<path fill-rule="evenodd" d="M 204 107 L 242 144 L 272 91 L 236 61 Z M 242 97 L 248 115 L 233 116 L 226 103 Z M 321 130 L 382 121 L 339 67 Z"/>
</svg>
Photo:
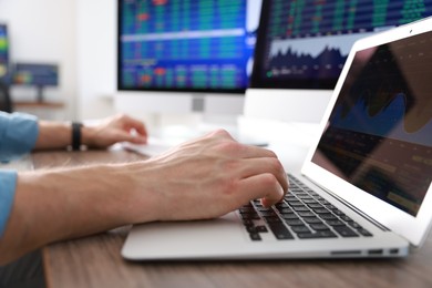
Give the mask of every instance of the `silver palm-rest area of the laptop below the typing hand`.
<svg viewBox="0 0 432 288">
<path fill-rule="evenodd" d="M 135 225 L 123 246 L 126 259 L 220 257 L 248 243 L 235 213 L 212 220 L 157 222 Z"/>
</svg>

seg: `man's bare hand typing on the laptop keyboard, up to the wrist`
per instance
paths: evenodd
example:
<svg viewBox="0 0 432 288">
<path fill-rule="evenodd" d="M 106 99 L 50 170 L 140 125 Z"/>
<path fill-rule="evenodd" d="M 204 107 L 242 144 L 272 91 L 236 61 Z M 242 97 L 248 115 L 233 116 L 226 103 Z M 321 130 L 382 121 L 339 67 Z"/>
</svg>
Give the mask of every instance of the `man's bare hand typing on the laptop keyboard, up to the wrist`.
<svg viewBox="0 0 432 288">
<path fill-rule="evenodd" d="M 130 206 L 133 223 L 214 218 L 258 198 L 271 206 L 288 189 L 275 153 L 239 144 L 225 131 L 182 144 L 127 173 L 136 191 Z M 153 215 L 144 215 L 142 207 L 148 210 L 150 204 Z"/>
</svg>

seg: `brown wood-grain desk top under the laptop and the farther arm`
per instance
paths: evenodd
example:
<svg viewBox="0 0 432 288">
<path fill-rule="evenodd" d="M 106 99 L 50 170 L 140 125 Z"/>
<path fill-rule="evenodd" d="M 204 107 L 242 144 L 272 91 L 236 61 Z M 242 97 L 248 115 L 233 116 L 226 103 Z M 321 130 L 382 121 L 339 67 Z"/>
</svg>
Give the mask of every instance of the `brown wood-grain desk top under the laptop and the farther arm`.
<svg viewBox="0 0 432 288">
<path fill-rule="evenodd" d="M 34 167 L 143 158 L 124 151 L 44 152 Z M 432 237 L 405 259 L 147 261 L 124 260 L 130 227 L 43 248 L 49 287 L 432 287 Z"/>
</svg>

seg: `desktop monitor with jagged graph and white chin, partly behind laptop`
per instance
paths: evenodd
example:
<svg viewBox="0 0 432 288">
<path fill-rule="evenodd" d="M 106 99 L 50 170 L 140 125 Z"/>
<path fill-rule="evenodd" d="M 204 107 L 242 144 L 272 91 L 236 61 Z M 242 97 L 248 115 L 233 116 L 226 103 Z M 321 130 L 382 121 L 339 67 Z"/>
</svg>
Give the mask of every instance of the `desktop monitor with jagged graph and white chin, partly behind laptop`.
<svg viewBox="0 0 432 288">
<path fill-rule="evenodd" d="M 263 1 L 245 115 L 318 123 L 359 38 L 432 14 L 432 1 Z"/>
</svg>

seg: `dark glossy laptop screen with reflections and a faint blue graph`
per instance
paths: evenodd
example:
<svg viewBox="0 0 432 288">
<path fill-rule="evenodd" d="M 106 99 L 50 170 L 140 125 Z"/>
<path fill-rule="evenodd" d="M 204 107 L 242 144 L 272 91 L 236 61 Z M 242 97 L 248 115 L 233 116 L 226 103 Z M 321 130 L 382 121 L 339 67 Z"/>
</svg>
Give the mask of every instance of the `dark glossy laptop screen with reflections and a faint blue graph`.
<svg viewBox="0 0 432 288">
<path fill-rule="evenodd" d="M 312 162 L 416 216 L 432 179 L 432 32 L 358 51 Z"/>
</svg>

